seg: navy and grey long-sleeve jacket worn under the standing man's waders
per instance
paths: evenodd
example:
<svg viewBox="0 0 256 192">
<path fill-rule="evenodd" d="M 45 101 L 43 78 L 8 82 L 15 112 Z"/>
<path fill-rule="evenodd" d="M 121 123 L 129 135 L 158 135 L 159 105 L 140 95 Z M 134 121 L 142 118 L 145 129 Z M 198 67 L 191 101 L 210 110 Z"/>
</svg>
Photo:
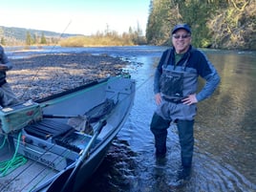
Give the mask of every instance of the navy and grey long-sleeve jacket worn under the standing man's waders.
<svg viewBox="0 0 256 192">
<path fill-rule="evenodd" d="M 170 53 L 168 53 L 170 52 Z M 169 58 L 166 59 L 166 56 Z M 184 70 L 183 76 L 183 96 L 196 94 L 198 89 L 199 75 L 205 79 L 206 83 L 200 92 L 197 94 L 198 101 L 211 96 L 220 83 L 220 76 L 218 75 L 214 66 L 210 63 L 203 52 L 192 48 L 190 46 L 187 53 L 184 53 L 181 60 L 175 65 L 175 49 L 170 48 L 162 53 L 160 63 L 155 72 L 154 79 L 154 93 L 160 93 L 160 76 L 162 75 L 162 67 L 166 63 L 166 67 L 171 71 L 181 72 Z M 185 69 L 182 64 L 186 62 Z"/>
</svg>

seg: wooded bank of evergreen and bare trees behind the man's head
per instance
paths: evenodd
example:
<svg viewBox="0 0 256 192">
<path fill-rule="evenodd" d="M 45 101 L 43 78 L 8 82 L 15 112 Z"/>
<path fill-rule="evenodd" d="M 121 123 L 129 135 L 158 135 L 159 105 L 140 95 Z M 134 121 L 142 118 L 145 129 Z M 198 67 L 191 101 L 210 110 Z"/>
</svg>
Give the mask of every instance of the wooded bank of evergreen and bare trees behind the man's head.
<svg viewBox="0 0 256 192">
<path fill-rule="evenodd" d="M 170 45 L 178 23 L 191 27 L 195 47 L 256 50 L 256 0 L 151 0 L 147 43 Z"/>
</svg>

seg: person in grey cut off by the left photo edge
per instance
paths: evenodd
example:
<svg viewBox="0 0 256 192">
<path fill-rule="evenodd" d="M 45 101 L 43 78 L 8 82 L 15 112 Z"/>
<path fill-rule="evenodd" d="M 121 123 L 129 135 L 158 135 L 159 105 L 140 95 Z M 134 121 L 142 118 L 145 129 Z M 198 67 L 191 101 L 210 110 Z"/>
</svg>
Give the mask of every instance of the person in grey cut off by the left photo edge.
<svg viewBox="0 0 256 192">
<path fill-rule="evenodd" d="M 11 62 L 0 45 L 0 108 L 18 103 L 17 97 L 13 94 L 11 86 L 6 80 L 6 72 L 11 68 Z"/>
</svg>

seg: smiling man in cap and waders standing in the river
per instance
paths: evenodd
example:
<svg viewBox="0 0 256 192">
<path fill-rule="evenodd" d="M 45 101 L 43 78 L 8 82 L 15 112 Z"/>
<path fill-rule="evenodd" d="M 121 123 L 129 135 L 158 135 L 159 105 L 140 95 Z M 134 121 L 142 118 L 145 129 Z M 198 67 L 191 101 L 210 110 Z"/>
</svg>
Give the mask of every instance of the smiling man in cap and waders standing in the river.
<svg viewBox="0 0 256 192">
<path fill-rule="evenodd" d="M 171 122 L 177 123 L 181 144 L 179 180 L 190 175 L 196 103 L 211 96 L 220 82 L 220 76 L 204 53 L 191 46 L 191 34 L 187 24 L 179 24 L 171 32 L 173 47 L 162 53 L 155 73 L 154 93 L 158 107 L 150 124 L 156 156 L 162 158 L 166 153 L 167 129 Z M 206 83 L 198 92 L 199 75 Z"/>
</svg>

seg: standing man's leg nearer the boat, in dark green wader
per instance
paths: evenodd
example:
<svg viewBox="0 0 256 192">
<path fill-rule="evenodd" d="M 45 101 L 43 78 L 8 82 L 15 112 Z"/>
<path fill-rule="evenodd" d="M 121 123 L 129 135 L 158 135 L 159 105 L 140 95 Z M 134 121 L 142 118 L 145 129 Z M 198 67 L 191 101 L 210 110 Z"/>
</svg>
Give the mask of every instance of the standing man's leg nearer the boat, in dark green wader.
<svg viewBox="0 0 256 192">
<path fill-rule="evenodd" d="M 156 155 L 163 157 L 166 153 L 167 129 L 170 126 L 170 120 L 165 120 L 158 114 L 154 114 L 150 124 L 150 130 L 155 137 Z"/>
</svg>

